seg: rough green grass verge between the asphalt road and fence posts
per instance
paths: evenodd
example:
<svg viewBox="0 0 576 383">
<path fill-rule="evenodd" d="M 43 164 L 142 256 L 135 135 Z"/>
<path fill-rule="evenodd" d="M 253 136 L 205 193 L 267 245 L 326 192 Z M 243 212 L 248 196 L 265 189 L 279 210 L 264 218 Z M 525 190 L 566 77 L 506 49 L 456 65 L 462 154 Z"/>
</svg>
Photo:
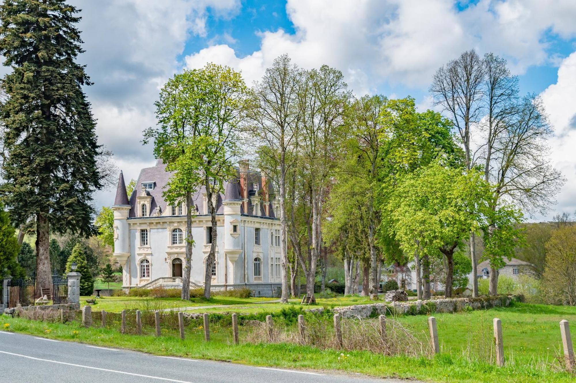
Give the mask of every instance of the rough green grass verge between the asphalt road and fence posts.
<svg viewBox="0 0 576 383">
<path fill-rule="evenodd" d="M 561 371 L 556 365 L 536 361 L 520 363 L 516 356 L 509 357 L 506 366 L 497 367 L 484 361 L 470 361 L 467 357 L 449 353 L 442 353 L 434 358 L 410 358 L 387 357 L 369 351 L 320 350 L 287 343 L 252 344 L 242 342 L 243 339 L 240 344 L 234 345 L 226 331 L 223 331 L 224 334 L 214 334 L 210 342 L 204 342 L 201 328 L 188 331 L 186 339 L 180 340 L 175 331 L 166 331 L 165 335 L 157 338 L 151 335 L 120 334 L 113 328 L 85 328 L 78 321 L 60 324 L 8 316 L 0 316 L 0 328 L 50 339 L 128 348 L 156 355 L 213 359 L 256 366 L 338 370 L 375 377 L 483 383 L 574 381 L 574 376 Z M 214 330 L 218 331 L 218 327 Z M 345 353 L 346 357 L 340 358 L 340 353 Z"/>
</svg>

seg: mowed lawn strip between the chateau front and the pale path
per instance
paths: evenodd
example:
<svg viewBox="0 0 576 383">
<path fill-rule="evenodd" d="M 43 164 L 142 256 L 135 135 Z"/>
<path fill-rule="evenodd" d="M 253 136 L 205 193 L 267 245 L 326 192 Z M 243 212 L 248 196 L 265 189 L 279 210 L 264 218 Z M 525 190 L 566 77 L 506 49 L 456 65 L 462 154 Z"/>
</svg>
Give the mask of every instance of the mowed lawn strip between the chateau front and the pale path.
<svg viewBox="0 0 576 383">
<path fill-rule="evenodd" d="M 94 297 L 80 297 L 80 305 L 85 306 L 87 299 Z M 169 309 L 178 307 L 197 307 L 211 305 L 240 305 L 274 300 L 275 298 L 237 298 L 214 296 L 209 300 L 204 298 L 191 298 L 191 300 L 182 300 L 180 298 L 152 298 L 152 297 L 102 297 L 96 300 L 92 306 L 93 311 L 121 312 L 130 309 Z"/>
</svg>

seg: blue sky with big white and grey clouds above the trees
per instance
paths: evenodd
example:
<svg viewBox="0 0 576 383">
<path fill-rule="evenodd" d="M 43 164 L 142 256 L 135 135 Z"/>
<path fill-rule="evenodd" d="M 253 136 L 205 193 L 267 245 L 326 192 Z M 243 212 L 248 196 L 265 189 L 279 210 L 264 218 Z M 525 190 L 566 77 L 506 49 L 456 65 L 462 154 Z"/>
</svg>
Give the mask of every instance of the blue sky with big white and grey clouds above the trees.
<svg viewBox="0 0 576 383">
<path fill-rule="evenodd" d="M 567 182 L 551 220 L 576 210 L 576 1 L 574 0 L 70 0 L 82 9 L 78 61 L 98 141 L 126 182 L 153 166 L 142 132 L 156 125 L 154 101 L 168 78 L 209 62 L 242 72 L 250 85 L 288 53 L 301 67 L 338 68 L 355 95 L 408 95 L 433 108 L 434 72 L 467 49 L 507 59 L 521 94 L 544 101 L 555 137 L 551 161 Z M 97 208 L 115 190 L 94 195 Z"/>
</svg>

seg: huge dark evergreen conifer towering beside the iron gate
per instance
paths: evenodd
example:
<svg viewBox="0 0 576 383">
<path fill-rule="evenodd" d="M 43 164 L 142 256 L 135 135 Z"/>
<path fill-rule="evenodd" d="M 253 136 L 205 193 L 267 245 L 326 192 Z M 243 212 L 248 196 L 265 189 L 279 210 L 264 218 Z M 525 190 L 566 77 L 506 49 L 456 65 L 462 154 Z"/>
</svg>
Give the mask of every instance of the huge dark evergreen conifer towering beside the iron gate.
<svg viewBox="0 0 576 383">
<path fill-rule="evenodd" d="M 49 288 L 49 232 L 95 232 L 90 204 L 101 188 L 96 123 L 82 86 L 91 85 L 75 7 L 63 0 L 6 0 L 0 6 L 5 183 L 13 223 L 36 221 L 37 290 Z"/>
</svg>

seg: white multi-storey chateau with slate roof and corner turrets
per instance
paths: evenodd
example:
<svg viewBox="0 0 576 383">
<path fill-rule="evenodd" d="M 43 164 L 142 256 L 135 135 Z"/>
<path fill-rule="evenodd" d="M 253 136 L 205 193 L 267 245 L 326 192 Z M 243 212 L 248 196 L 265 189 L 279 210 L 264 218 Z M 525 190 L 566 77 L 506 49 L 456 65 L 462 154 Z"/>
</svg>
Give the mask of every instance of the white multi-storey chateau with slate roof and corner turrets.
<svg viewBox="0 0 576 383">
<path fill-rule="evenodd" d="M 206 258 L 212 241 L 206 189 L 192 199 L 169 205 L 162 198 L 170 178 L 166 166 L 141 170 L 128 199 L 120 172 L 114 212 L 114 256 L 122 265 L 124 289 L 182 285 L 185 257 L 186 209 L 195 209 L 192 219 L 191 284 L 204 284 Z M 214 195 L 218 236 L 216 261 L 209 265 L 212 288 L 253 290 L 255 296 L 278 296 L 281 286 L 279 203 L 271 199 L 270 182 L 264 173 L 250 171 L 248 162 L 238 166 L 237 179 L 226 183 L 225 193 Z"/>
</svg>

